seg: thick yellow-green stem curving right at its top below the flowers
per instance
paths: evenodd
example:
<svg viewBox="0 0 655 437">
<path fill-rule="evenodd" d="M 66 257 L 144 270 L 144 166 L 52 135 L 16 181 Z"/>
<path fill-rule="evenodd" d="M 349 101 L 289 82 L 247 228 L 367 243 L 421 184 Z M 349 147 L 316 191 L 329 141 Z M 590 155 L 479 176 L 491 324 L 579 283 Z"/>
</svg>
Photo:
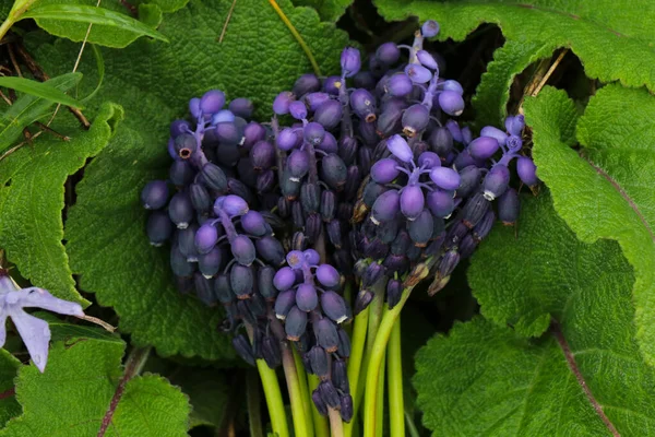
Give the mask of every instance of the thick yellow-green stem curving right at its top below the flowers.
<svg viewBox="0 0 655 437">
<path fill-rule="evenodd" d="M 378 335 L 376 336 L 376 341 L 372 346 L 366 375 L 364 437 L 376 437 L 377 435 L 376 428 L 378 425 L 378 397 L 376 390 L 378 388 L 378 377 L 380 375 L 382 359 L 385 355 L 384 353 L 386 352 L 386 343 L 389 342 L 389 336 L 391 335 L 393 326 L 395 324 L 398 316 L 401 315 L 401 310 L 403 309 L 403 306 L 405 306 L 407 298 L 409 298 L 409 294 L 412 294 L 413 288 L 413 286 L 409 286 L 403 291 L 401 302 L 398 302 L 398 304 L 395 307 L 393 307 L 393 309 L 389 309 L 389 307 L 384 306 L 384 315 L 382 316 L 382 321 L 380 322 L 380 327 L 378 329 Z"/>
</svg>

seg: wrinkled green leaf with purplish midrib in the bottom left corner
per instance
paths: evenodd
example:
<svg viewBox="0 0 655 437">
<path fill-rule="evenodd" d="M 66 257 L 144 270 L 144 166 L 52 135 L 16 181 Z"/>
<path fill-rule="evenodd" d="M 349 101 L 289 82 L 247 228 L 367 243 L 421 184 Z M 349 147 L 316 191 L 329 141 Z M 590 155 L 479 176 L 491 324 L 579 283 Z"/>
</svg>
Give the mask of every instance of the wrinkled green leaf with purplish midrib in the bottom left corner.
<svg viewBox="0 0 655 437">
<path fill-rule="evenodd" d="M 122 342 L 53 343 L 44 374 L 34 366 L 19 371 L 16 398 L 23 415 L 10 421 L 0 436 L 95 436 L 115 394 L 119 401 L 105 436 L 186 436 L 187 397 L 164 378 L 138 376 L 121 392 L 123 352 Z"/>
</svg>

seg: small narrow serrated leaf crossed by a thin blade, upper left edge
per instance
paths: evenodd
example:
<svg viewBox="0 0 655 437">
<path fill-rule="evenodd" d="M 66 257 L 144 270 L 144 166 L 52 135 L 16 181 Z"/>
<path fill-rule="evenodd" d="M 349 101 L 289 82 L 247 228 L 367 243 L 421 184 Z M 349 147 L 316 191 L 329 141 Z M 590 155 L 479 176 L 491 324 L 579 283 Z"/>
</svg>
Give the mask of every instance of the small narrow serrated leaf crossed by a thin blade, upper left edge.
<svg viewBox="0 0 655 437">
<path fill-rule="evenodd" d="M 63 93 L 75 86 L 81 79 L 81 73 L 63 73 L 44 84 Z M 21 96 L 9 106 L 0 117 L 0 152 L 10 146 L 27 126 L 49 116 L 51 107 L 52 101 L 31 94 Z"/>
</svg>

